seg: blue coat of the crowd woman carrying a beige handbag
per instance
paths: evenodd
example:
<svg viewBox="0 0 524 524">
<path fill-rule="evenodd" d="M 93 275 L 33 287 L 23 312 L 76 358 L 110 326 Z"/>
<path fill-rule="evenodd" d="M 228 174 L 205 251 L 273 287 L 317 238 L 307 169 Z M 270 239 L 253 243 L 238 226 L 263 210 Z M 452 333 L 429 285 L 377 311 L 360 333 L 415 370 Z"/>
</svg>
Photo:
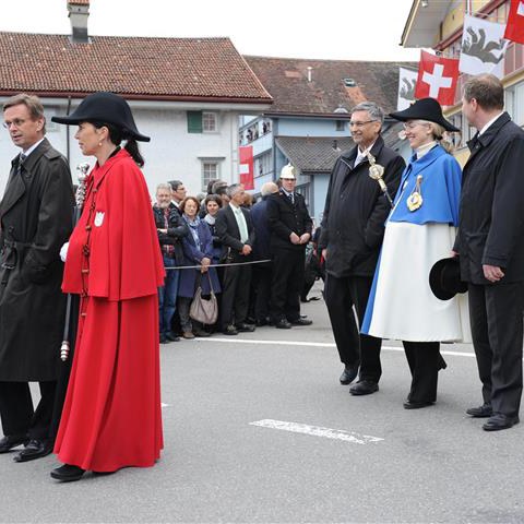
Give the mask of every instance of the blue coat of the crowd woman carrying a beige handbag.
<svg viewBox="0 0 524 524">
<path fill-rule="evenodd" d="M 205 221 L 200 221 L 198 231 L 200 246 L 196 246 L 191 231 L 182 238 L 183 265 L 199 265 L 204 257 L 207 257 L 213 263 L 213 236 L 211 235 L 210 225 Z M 178 296 L 186 298 L 194 297 L 194 291 L 199 284 L 202 287 L 202 294 L 209 295 L 211 293 L 210 278 L 215 294 L 221 293 L 221 283 L 218 282 L 215 267 L 209 269 L 209 276 L 205 273 L 201 273 L 199 269 L 180 270 Z"/>
</svg>

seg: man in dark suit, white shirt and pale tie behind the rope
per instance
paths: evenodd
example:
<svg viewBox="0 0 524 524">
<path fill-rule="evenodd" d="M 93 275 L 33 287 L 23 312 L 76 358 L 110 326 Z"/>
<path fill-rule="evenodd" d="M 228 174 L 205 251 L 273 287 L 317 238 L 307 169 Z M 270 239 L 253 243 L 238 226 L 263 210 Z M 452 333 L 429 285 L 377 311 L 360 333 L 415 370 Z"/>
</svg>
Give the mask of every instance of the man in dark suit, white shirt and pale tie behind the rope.
<svg viewBox="0 0 524 524">
<path fill-rule="evenodd" d="M 222 245 L 227 249 L 230 263 L 251 261 L 254 228 L 248 210 L 241 207 L 246 191 L 241 183 L 227 188 L 229 205 L 216 214 L 215 230 Z M 249 307 L 251 265 L 231 265 L 224 269 L 222 283 L 221 324 L 224 334 L 254 331 L 246 322 Z"/>
</svg>

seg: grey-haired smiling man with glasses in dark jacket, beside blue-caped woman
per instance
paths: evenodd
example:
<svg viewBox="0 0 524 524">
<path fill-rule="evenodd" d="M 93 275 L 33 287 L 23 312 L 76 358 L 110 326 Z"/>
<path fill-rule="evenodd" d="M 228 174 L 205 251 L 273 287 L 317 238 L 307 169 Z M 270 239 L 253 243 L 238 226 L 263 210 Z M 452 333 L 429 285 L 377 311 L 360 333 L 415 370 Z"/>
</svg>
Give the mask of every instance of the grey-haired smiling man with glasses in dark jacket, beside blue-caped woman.
<svg viewBox="0 0 524 524">
<path fill-rule="evenodd" d="M 333 167 L 319 240 L 325 260 L 324 299 L 344 364 L 341 383 L 353 382 L 360 365 L 359 382 L 349 390 L 354 395 L 378 391 L 382 374 L 382 341 L 360 335 L 359 324 L 391 206 L 379 183 L 369 177 L 367 153 L 384 167 L 383 179 L 392 196 L 405 167 L 403 158 L 384 145 L 380 135 L 383 120 L 383 111 L 374 103 L 365 102 L 353 109 L 349 126 L 356 146 L 343 153 Z"/>
</svg>

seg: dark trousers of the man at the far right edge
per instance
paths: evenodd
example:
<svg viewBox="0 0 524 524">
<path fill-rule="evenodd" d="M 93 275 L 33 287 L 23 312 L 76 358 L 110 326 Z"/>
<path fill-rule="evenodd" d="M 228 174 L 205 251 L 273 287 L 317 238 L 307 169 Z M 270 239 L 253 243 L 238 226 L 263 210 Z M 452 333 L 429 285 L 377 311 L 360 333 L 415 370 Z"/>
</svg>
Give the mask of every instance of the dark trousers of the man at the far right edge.
<svg viewBox="0 0 524 524">
<path fill-rule="evenodd" d="M 522 396 L 524 283 L 467 286 L 473 346 L 484 402 L 517 415 Z"/>
</svg>

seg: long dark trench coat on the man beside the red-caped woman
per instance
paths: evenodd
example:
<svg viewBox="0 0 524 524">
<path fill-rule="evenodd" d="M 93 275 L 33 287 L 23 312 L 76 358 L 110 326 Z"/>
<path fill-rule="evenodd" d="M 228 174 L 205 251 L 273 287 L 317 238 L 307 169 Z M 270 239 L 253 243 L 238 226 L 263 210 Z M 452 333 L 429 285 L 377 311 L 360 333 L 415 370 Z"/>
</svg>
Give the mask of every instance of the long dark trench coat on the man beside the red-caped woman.
<svg viewBox="0 0 524 524">
<path fill-rule="evenodd" d="M 71 172 L 47 139 L 17 167 L 19 157 L 0 203 L 0 381 L 51 381 L 63 336 L 59 252 L 72 230 Z"/>
</svg>

